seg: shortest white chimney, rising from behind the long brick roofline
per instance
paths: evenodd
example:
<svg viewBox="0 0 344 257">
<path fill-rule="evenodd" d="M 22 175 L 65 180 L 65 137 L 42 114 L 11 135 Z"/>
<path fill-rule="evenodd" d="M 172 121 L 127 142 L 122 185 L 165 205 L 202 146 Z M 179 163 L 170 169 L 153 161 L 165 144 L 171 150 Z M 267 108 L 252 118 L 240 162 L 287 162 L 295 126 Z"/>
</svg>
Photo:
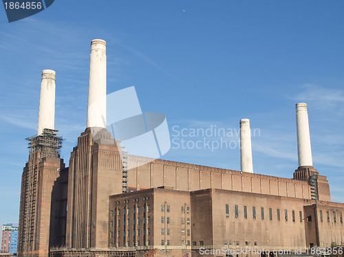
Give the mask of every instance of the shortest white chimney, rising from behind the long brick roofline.
<svg viewBox="0 0 344 257">
<path fill-rule="evenodd" d="M 250 120 L 240 120 L 241 171 L 253 173 Z"/>
</svg>

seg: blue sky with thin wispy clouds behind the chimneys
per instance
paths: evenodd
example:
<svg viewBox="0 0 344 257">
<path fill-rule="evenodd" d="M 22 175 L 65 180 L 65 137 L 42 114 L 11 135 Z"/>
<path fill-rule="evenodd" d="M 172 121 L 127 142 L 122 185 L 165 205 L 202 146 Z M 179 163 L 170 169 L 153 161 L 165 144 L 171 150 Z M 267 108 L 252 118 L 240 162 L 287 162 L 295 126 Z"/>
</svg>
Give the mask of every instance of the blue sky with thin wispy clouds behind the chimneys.
<svg viewBox="0 0 344 257">
<path fill-rule="evenodd" d="M 164 113 L 170 129 L 234 131 L 249 118 L 260 131 L 257 173 L 292 177 L 294 105 L 307 102 L 314 168 L 329 179 L 332 201 L 344 202 L 343 11 L 339 0 L 56 0 L 8 23 L 0 8 L 0 223 L 18 221 L 43 69 L 56 71 L 55 126 L 68 165 L 86 126 L 94 38 L 107 41 L 108 93 L 135 86 L 142 110 Z M 164 159 L 240 169 L 239 147 L 171 148 Z"/>
</svg>

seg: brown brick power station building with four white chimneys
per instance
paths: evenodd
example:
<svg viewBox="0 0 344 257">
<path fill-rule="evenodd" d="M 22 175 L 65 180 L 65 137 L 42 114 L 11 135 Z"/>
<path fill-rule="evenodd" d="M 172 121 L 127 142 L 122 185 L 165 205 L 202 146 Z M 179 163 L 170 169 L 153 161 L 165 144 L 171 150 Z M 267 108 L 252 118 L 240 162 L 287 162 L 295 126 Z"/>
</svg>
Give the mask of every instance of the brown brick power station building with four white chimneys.
<svg viewBox="0 0 344 257">
<path fill-rule="evenodd" d="M 127 155 L 106 129 L 106 43 L 91 43 L 87 128 L 65 168 L 54 130 L 55 72 L 43 70 L 37 135 L 21 183 L 19 256 L 202 256 L 205 249 L 343 245 L 343 203 L 312 164 L 308 112 L 297 104 L 293 179 L 256 174 L 250 121 L 241 171 Z M 129 166 L 130 168 L 126 168 Z M 257 252 L 264 249 L 265 252 Z M 256 250 L 253 251 L 253 250 Z M 207 256 L 229 256 L 215 252 Z"/>
</svg>

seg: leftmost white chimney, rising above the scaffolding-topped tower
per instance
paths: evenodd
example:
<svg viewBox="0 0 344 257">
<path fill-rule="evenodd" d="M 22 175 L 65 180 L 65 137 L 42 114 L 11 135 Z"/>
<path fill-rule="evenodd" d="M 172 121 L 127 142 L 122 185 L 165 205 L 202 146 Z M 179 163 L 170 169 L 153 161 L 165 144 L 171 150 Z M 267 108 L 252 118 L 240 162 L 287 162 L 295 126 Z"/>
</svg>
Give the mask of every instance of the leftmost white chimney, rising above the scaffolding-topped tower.
<svg viewBox="0 0 344 257">
<path fill-rule="evenodd" d="M 42 71 L 41 96 L 39 98 L 39 125 L 37 135 L 43 129 L 54 129 L 55 124 L 55 71 Z"/>
</svg>

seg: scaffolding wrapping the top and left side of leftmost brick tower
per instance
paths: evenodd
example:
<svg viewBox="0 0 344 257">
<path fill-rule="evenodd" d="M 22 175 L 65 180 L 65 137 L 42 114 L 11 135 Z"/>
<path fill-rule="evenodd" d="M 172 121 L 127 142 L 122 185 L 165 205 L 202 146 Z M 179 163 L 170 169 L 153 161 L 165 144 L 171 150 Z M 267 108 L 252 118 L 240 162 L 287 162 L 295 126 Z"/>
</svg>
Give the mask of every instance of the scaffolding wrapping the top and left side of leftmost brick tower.
<svg viewBox="0 0 344 257">
<path fill-rule="evenodd" d="M 34 220 L 35 220 L 35 197 L 36 197 L 36 165 L 43 158 L 49 157 L 53 159 L 60 158 L 60 150 L 63 138 L 58 137 L 58 131 L 54 129 L 43 129 L 41 135 L 26 138 L 28 140 L 28 148 L 30 149 L 28 169 L 26 171 L 26 191 L 23 224 L 21 224 L 21 234 L 23 235 L 23 256 L 28 257 L 32 250 L 34 241 Z"/>
</svg>

